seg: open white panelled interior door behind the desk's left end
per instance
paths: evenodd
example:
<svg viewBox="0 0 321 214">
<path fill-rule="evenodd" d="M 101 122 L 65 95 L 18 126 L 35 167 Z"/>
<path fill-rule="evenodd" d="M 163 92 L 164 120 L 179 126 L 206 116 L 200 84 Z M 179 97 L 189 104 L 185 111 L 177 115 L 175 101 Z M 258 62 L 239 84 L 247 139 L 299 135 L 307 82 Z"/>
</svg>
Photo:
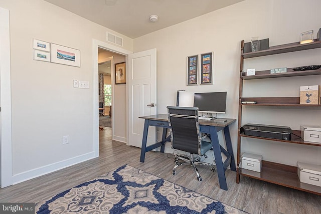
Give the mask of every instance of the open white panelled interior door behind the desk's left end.
<svg viewBox="0 0 321 214">
<path fill-rule="evenodd" d="M 157 114 L 156 49 L 128 55 L 128 144 L 141 147 L 144 120 Z M 155 143 L 155 127 L 149 127 L 147 145 Z"/>
</svg>

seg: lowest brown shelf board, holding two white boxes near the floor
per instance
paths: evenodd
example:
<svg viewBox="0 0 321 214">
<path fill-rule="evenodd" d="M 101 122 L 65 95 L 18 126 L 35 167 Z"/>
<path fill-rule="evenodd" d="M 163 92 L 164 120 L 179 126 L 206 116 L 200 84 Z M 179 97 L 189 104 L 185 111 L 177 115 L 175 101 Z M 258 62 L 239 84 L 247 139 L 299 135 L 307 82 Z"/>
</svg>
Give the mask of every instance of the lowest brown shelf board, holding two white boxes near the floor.
<svg viewBox="0 0 321 214">
<path fill-rule="evenodd" d="M 300 182 L 297 176 L 296 166 L 289 166 L 262 160 L 261 172 L 238 168 L 237 173 L 258 180 L 321 195 L 320 186 Z"/>
</svg>

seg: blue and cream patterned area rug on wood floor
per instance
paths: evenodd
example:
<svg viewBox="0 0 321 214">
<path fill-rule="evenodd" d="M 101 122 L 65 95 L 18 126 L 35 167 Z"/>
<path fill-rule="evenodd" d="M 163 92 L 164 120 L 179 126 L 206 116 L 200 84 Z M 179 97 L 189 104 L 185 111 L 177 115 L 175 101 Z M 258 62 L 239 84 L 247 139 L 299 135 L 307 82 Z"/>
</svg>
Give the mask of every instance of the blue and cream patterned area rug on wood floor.
<svg viewBox="0 0 321 214">
<path fill-rule="evenodd" d="M 36 203 L 37 213 L 247 213 L 129 165 Z"/>
</svg>

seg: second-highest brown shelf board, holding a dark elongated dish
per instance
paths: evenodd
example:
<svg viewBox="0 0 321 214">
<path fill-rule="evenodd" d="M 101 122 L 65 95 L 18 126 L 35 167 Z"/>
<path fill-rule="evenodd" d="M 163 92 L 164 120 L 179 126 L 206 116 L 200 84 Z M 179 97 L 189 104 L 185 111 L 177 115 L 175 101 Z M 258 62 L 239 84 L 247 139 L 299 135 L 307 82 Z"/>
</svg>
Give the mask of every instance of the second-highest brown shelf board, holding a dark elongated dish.
<svg viewBox="0 0 321 214">
<path fill-rule="evenodd" d="M 243 80 L 253 80 L 253 79 L 295 77 L 295 76 L 308 76 L 308 75 L 321 74 L 321 68 L 316 70 L 307 70 L 307 71 L 293 71 L 292 69 L 293 68 L 288 68 L 286 73 L 278 73 L 278 74 L 270 74 L 270 70 L 255 71 L 255 75 L 253 76 L 246 76 L 245 72 L 241 72 L 241 78 Z"/>
</svg>

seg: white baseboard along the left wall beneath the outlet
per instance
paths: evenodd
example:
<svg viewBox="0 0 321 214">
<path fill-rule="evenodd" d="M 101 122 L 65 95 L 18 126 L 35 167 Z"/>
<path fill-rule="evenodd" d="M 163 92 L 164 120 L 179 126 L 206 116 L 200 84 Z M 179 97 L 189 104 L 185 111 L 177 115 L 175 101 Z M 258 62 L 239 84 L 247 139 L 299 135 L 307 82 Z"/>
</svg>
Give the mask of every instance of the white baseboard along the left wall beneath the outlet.
<svg viewBox="0 0 321 214">
<path fill-rule="evenodd" d="M 12 176 L 13 185 L 95 158 L 95 152 L 79 155 Z"/>
</svg>

